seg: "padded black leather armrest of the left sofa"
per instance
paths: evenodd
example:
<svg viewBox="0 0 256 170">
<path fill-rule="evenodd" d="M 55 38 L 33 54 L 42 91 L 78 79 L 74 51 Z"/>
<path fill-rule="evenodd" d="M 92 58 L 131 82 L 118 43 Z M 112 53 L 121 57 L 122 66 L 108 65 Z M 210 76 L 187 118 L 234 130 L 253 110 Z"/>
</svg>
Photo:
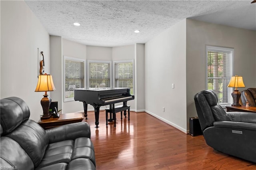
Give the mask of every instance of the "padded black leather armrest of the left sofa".
<svg viewBox="0 0 256 170">
<path fill-rule="evenodd" d="M 62 140 L 74 140 L 79 137 L 91 137 L 90 126 L 87 122 L 72 123 L 60 127 L 45 130 L 49 136 L 49 143 L 59 142 Z"/>
</svg>

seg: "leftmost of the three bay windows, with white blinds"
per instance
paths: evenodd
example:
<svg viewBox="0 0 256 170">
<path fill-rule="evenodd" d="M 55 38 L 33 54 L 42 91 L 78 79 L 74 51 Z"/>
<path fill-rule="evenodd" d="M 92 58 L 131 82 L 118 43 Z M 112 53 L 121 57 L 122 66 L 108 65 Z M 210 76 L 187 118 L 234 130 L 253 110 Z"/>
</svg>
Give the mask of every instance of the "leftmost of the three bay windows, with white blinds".
<svg viewBox="0 0 256 170">
<path fill-rule="evenodd" d="M 74 89 L 84 87 L 84 60 L 64 56 L 64 101 L 74 100 Z"/>
</svg>

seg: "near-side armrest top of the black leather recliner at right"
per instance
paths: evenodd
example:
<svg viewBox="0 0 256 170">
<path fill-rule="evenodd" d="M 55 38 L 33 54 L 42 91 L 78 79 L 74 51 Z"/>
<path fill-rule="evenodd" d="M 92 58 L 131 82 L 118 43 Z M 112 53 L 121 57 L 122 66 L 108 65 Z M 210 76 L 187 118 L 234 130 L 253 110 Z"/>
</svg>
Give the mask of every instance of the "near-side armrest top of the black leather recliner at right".
<svg viewBox="0 0 256 170">
<path fill-rule="evenodd" d="M 219 128 L 233 128 L 233 129 L 245 129 L 256 131 L 255 123 L 244 123 L 244 122 L 231 122 L 231 121 L 216 121 L 213 123 L 214 127 Z"/>
</svg>

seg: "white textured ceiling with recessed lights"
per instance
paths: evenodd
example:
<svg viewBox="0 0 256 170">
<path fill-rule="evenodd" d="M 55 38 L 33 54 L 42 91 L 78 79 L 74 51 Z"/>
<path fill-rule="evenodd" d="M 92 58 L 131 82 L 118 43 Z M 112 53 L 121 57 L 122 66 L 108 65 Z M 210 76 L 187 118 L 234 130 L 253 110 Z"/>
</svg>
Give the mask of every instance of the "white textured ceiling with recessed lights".
<svg viewBox="0 0 256 170">
<path fill-rule="evenodd" d="M 50 35 L 106 47 L 146 43 L 185 18 L 256 30 L 251 1 L 25 0 Z"/>
</svg>

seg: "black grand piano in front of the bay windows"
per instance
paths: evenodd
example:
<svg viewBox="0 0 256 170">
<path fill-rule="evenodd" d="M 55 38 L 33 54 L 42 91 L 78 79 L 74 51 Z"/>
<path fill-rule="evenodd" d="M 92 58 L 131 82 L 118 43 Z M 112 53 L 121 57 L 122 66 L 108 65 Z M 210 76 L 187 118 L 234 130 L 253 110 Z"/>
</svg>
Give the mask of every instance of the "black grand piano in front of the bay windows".
<svg viewBox="0 0 256 170">
<path fill-rule="evenodd" d="M 99 126 L 100 107 L 110 105 L 110 110 L 114 109 L 115 103 L 123 102 L 127 106 L 127 101 L 133 100 L 134 95 L 130 94 L 130 88 L 79 88 L 74 89 L 74 100 L 84 103 L 84 117 L 87 119 L 88 104 L 94 107 L 95 128 Z M 111 113 L 111 112 L 110 112 Z"/>
</svg>

